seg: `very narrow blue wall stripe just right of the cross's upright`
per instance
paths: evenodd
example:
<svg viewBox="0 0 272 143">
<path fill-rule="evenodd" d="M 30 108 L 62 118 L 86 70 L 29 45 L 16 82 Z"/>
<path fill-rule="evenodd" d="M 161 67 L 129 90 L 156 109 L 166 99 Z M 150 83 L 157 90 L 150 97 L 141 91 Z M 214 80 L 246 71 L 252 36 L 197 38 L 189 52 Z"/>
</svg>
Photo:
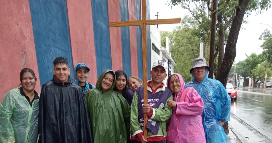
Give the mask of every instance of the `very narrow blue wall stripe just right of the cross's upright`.
<svg viewBox="0 0 272 143">
<path fill-rule="evenodd" d="M 146 0 L 146 19 L 150 19 L 149 0 Z M 146 26 L 146 39 L 147 39 L 147 75 L 151 70 L 151 39 L 150 39 L 150 25 Z M 151 80 L 150 76 L 147 76 Z"/>
</svg>

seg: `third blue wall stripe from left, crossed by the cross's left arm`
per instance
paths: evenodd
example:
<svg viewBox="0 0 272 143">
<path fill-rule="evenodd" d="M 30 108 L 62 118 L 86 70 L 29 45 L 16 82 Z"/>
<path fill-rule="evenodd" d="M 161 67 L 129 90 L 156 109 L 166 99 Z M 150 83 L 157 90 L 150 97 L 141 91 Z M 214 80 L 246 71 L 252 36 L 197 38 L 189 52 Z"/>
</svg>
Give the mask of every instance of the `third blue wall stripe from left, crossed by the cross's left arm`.
<svg viewBox="0 0 272 143">
<path fill-rule="evenodd" d="M 129 20 L 129 7 L 127 0 L 120 0 L 120 17 L 121 21 Z M 123 70 L 127 77 L 131 77 L 131 57 L 130 57 L 130 40 L 129 40 L 129 27 L 121 27 L 122 38 L 122 57 L 123 57 Z"/>
</svg>

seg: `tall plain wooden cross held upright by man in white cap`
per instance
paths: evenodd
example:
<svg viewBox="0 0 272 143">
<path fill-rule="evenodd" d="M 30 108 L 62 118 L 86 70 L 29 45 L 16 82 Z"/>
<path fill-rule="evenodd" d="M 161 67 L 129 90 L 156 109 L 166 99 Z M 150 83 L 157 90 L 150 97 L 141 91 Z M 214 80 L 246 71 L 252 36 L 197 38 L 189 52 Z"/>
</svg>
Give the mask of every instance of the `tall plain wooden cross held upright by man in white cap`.
<svg viewBox="0 0 272 143">
<path fill-rule="evenodd" d="M 109 27 L 121 27 L 121 26 L 142 26 L 142 50 L 143 50 L 143 103 L 147 104 L 147 41 L 146 41 L 146 26 L 156 24 L 172 24 L 180 23 L 180 18 L 175 19 L 157 19 L 146 20 L 145 0 L 142 0 L 142 20 L 135 21 L 118 21 L 109 22 Z M 167 72 L 167 71 L 166 71 Z M 144 137 L 147 140 L 147 114 L 144 114 Z"/>
</svg>

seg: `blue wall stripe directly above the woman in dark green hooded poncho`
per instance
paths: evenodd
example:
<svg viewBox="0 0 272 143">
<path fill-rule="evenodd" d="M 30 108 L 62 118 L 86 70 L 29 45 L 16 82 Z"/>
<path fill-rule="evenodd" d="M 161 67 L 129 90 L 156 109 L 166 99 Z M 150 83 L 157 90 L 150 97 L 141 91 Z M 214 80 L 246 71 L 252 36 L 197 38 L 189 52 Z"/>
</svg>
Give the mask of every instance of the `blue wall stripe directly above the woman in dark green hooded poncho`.
<svg viewBox="0 0 272 143">
<path fill-rule="evenodd" d="M 106 69 L 112 69 L 108 2 L 105 0 L 91 0 L 91 3 L 96 69 L 97 77 L 99 77 Z M 91 54 L 90 56 L 93 56 Z"/>
</svg>

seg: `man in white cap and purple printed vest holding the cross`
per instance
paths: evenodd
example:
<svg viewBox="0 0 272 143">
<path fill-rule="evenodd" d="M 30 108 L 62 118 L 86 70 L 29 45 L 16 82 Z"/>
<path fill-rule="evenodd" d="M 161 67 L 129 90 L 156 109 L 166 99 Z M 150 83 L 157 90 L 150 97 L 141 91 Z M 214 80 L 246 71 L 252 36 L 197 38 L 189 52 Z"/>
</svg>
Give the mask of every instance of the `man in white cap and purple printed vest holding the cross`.
<svg viewBox="0 0 272 143">
<path fill-rule="evenodd" d="M 143 104 L 143 86 L 136 89 L 131 103 L 132 142 L 166 142 L 166 120 L 172 115 L 168 100 L 173 100 L 172 91 L 162 82 L 166 78 L 167 64 L 156 60 L 150 71 L 151 81 L 147 81 L 148 104 Z M 147 114 L 147 140 L 143 137 L 143 113 Z"/>
</svg>

